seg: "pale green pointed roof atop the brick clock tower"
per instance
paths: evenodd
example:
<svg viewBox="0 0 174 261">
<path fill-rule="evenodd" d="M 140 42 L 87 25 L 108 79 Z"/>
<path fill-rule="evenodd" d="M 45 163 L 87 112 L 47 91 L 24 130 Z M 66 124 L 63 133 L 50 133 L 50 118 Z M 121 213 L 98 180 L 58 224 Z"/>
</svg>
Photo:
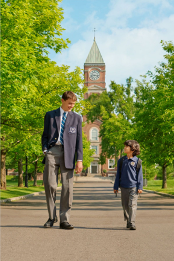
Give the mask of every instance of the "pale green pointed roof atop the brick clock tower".
<svg viewBox="0 0 174 261">
<path fill-rule="evenodd" d="M 91 47 L 91 50 L 88 54 L 88 57 L 85 61 L 85 64 L 105 64 L 105 62 L 103 61 L 103 58 L 101 56 L 101 53 L 98 49 L 98 46 L 95 42 L 95 38 L 94 38 L 94 43 Z"/>
</svg>

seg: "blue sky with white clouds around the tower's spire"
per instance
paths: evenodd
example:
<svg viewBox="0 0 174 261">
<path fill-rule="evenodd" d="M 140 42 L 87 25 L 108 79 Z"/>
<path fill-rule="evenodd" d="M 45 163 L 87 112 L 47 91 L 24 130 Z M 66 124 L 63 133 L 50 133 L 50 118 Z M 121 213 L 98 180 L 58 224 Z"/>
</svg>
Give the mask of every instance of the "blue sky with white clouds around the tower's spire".
<svg viewBox="0 0 174 261">
<path fill-rule="evenodd" d="M 160 40 L 174 42 L 174 0 L 63 0 L 63 38 L 69 48 L 49 57 L 58 65 L 83 69 L 94 40 L 106 64 L 107 88 L 112 81 L 140 79 L 163 61 Z M 109 89 L 109 88 L 108 88 Z"/>
</svg>

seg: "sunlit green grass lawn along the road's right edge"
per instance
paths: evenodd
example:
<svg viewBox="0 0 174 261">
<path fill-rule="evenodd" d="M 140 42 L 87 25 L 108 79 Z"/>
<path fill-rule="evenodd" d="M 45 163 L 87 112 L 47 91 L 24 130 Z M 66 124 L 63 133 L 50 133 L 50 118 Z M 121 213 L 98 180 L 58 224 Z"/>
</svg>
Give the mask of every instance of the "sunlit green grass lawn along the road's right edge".
<svg viewBox="0 0 174 261">
<path fill-rule="evenodd" d="M 161 187 L 162 180 L 148 180 L 147 187 L 143 187 L 143 189 L 149 189 L 157 192 L 163 192 L 174 195 L 174 179 L 167 180 L 167 189 L 161 189 Z"/>
</svg>

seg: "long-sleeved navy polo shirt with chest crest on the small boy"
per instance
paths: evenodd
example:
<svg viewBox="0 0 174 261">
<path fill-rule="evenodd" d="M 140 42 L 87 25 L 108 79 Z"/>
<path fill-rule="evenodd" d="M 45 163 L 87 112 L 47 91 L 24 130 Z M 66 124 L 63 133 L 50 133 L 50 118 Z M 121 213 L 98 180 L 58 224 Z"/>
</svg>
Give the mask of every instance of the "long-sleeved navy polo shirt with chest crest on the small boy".
<svg viewBox="0 0 174 261">
<path fill-rule="evenodd" d="M 133 188 L 137 187 L 142 189 L 143 187 L 143 177 L 142 177 L 142 165 L 138 175 L 136 174 L 138 158 L 134 156 L 131 159 L 125 157 L 122 165 L 122 175 L 121 180 L 119 181 L 119 170 L 120 170 L 120 159 L 117 163 L 117 175 L 115 178 L 113 189 L 118 190 L 119 185 L 123 188 Z"/>
</svg>

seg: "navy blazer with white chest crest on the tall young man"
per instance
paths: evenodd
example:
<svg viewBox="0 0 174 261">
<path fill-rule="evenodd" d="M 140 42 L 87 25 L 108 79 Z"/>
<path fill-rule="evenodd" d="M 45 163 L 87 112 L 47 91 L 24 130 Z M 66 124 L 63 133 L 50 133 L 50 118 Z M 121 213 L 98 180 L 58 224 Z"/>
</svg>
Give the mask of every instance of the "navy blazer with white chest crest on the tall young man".
<svg viewBox="0 0 174 261">
<path fill-rule="evenodd" d="M 42 134 L 42 150 L 50 149 L 59 137 L 61 110 L 47 112 Z M 76 160 L 83 160 L 81 116 L 68 112 L 63 132 L 64 164 L 66 168 L 74 169 Z M 45 164 L 45 157 L 42 163 Z"/>
</svg>

